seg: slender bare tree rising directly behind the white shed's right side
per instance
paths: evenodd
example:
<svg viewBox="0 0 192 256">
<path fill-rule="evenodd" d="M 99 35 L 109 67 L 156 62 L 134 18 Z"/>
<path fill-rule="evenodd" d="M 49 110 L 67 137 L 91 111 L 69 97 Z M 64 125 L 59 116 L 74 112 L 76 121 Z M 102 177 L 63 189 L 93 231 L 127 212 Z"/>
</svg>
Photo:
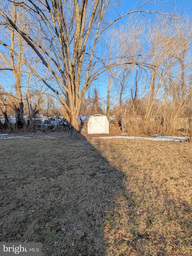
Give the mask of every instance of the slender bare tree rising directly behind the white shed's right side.
<svg viewBox="0 0 192 256">
<path fill-rule="evenodd" d="M 142 66 L 143 43 L 140 41 L 143 33 L 143 20 L 137 17 L 128 17 L 124 25 L 118 29 L 113 29 L 109 33 L 110 41 L 106 41 L 108 46 L 109 64 L 112 61 L 123 56 L 123 59 L 129 60 L 129 65 L 115 66 L 107 71 L 107 116 L 110 108 L 110 92 L 114 86 L 114 91 L 119 91 L 119 104 L 122 108 L 122 95 L 128 89 L 128 78 L 137 65 Z M 135 65 L 137 64 L 137 65 Z M 137 68 L 136 68 L 137 69 Z M 129 88 L 130 89 L 130 88 Z"/>
</svg>

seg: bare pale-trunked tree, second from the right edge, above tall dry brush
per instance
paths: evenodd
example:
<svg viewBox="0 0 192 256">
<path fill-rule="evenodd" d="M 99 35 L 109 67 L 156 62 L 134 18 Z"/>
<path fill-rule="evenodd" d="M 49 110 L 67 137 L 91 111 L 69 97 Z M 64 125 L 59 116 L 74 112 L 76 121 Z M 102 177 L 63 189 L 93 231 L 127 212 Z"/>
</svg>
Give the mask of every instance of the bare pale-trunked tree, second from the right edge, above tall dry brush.
<svg viewBox="0 0 192 256">
<path fill-rule="evenodd" d="M 156 115 L 153 113 L 156 101 L 161 101 L 162 106 L 169 94 L 168 80 L 173 77 L 171 67 L 174 63 L 172 47 L 174 42 L 170 34 L 174 33 L 175 24 L 176 20 L 164 17 L 147 26 L 146 41 L 149 48 L 146 59 L 151 67 L 146 70 L 146 119 Z"/>
</svg>

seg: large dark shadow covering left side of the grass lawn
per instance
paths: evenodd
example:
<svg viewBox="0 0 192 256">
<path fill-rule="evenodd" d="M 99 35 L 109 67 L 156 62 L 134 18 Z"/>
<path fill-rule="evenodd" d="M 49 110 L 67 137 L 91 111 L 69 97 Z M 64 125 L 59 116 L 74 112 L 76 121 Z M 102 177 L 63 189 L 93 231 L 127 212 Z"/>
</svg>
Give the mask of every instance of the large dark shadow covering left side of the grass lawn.
<svg viewBox="0 0 192 256">
<path fill-rule="evenodd" d="M 0 240 L 42 242 L 43 255 L 106 255 L 120 201 L 133 203 L 123 173 L 84 137 L 1 142 Z"/>
</svg>

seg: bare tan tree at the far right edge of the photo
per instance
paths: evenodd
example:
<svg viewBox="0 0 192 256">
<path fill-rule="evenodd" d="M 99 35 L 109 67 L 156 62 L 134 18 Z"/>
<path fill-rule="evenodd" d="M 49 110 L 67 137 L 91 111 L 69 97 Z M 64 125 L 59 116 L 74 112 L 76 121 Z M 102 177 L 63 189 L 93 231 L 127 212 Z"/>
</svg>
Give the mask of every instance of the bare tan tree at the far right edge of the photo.
<svg viewBox="0 0 192 256">
<path fill-rule="evenodd" d="M 175 33 L 172 37 L 172 58 L 173 63 L 170 77 L 169 92 L 172 99 L 167 104 L 171 110 L 170 123 L 173 125 L 181 117 L 190 117 L 192 101 L 192 57 L 191 57 L 191 39 L 192 29 L 190 19 L 185 18 L 182 22 L 176 24 Z"/>
</svg>

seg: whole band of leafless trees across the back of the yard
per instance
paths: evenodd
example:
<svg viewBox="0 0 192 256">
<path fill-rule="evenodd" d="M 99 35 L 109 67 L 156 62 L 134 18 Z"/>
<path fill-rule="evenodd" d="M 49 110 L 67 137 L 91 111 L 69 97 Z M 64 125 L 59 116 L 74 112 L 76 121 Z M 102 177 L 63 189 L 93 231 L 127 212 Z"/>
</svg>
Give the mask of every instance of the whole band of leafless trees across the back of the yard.
<svg viewBox="0 0 192 256">
<path fill-rule="evenodd" d="M 158 1 L 150 11 L 149 2 L 113 17 L 120 7 L 110 0 L 3 1 L 5 124 L 7 112 L 22 128 L 23 115 L 33 127 L 35 115 L 49 111 L 64 116 L 76 138 L 78 116 L 97 111 L 116 115 L 129 133 L 190 132 L 191 17 Z"/>
</svg>

